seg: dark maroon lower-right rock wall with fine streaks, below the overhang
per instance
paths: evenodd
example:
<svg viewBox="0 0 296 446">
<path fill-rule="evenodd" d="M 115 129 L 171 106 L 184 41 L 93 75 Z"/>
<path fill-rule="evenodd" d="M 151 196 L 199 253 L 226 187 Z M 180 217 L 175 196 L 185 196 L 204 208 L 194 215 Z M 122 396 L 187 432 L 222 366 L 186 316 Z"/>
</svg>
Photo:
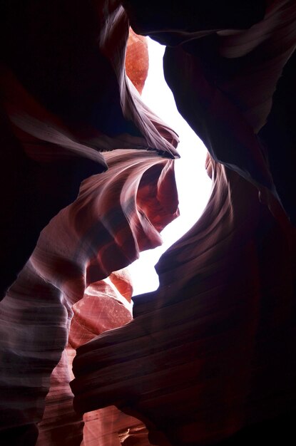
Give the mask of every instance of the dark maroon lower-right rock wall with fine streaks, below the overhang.
<svg viewBox="0 0 296 446">
<path fill-rule="evenodd" d="M 128 407 L 174 446 L 295 409 L 295 229 L 235 172 L 213 162 L 213 177 L 203 216 L 157 265 L 160 289 L 73 363 L 78 412 Z"/>
</svg>

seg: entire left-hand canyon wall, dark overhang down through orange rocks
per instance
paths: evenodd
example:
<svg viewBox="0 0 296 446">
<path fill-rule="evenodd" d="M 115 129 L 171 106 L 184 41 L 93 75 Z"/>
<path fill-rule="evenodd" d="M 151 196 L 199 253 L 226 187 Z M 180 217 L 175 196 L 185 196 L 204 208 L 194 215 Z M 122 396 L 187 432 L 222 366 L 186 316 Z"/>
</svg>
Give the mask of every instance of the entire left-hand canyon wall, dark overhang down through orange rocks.
<svg viewBox="0 0 296 446">
<path fill-rule="evenodd" d="M 83 421 L 73 412 L 68 385 L 73 347 L 66 346 L 69 336 L 78 336 L 77 323 L 70 331 L 72 306 L 88 284 L 111 274 L 121 299 L 106 289 L 95 303 L 84 296 L 84 307 L 98 304 L 99 318 L 93 326 L 86 311 L 84 325 L 90 323 L 95 336 L 130 321 L 131 308 L 122 304 L 131 300 L 130 279 L 113 271 L 130 264 L 141 249 L 158 246 L 159 231 L 178 216 L 168 160 L 178 156 L 178 137 L 143 105 L 126 77 L 128 19 L 122 6 L 70 3 L 1 6 L 6 19 L 1 42 L 7 43 L 0 76 L 6 167 L 1 445 L 81 443 Z M 137 43 L 129 53 L 131 62 L 133 53 L 138 58 Z M 106 150 L 111 152 L 103 157 Z M 83 329 L 85 341 L 89 333 L 86 329 L 83 337 Z M 93 416 L 100 421 L 91 422 Z M 85 422 L 85 444 L 94 435 L 102 445 L 112 445 L 114 435 L 117 442 L 128 444 L 136 436 L 145 444 L 146 428 L 116 408 Z"/>
</svg>

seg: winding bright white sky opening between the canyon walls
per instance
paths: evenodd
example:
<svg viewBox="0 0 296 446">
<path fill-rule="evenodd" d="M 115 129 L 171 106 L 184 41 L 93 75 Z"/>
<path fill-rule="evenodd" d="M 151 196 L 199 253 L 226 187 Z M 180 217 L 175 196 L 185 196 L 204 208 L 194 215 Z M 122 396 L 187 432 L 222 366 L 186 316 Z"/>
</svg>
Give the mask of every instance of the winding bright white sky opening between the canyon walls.
<svg viewBox="0 0 296 446">
<path fill-rule="evenodd" d="M 203 213 L 210 197 L 212 182 L 205 171 L 207 150 L 203 142 L 182 118 L 175 105 L 173 93 L 163 76 L 163 53 L 165 46 L 148 38 L 149 71 L 142 93 L 143 101 L 180 138 L 175 161 L 175 178 L 178 188 L 180 217 L 168 224 L 161 237 L 161 247 L 143 251 L 140 258 L 128 267 L 133 280 L 133 296 L 158 289 L 158 275 L 154 265 L 159 257 L 176 240 L 180 239 L 195 224 Z"/>
</svg>

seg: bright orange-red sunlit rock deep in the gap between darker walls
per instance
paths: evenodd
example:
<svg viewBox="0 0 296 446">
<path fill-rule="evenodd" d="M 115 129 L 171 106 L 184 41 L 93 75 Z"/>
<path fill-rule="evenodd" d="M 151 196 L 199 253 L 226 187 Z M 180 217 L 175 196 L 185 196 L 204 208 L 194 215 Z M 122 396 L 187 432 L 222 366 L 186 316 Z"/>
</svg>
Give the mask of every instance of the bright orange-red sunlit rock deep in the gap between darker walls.
<svg viewBox="0 0 296 446">
<path fill-rule="evenodd" d="M 111 274 L 118 289 L 127 289 L 127 271 Z M 118 292 L 112 282 L 98 281 L 86 290 L 81 301 L 73 306 L 73 318 L 69 331 L 68 347 L 61 361 L 51 374 L 51 388 L 46 396 L 46 408 L 39 423 L 36 445 L 112 445 L 136 439 L 136 444 L 150 445 L 146 427 L 136 418 L 128 416 L 116 407 L 109 407 L 76 415 L 73 410 L 73 394 L 69 386 L 71 365 L 75 348 L 83 345 L 110 328 L 123 326 L 132 319 L 132 287 L 126 297 Z"/>
</svg>

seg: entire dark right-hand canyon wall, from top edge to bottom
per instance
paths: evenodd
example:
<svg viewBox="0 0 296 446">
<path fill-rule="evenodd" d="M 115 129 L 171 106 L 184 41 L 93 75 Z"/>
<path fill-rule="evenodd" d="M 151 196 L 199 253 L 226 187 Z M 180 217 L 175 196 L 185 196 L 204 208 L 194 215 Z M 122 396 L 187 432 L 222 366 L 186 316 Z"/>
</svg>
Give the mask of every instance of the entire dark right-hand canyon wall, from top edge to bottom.
<svg viewBox="0 0 296 446">
<path fill-rule="evenodd" d="M 138 33 L 168 45 L 165 77 L 213 157 L 214 188 L 160 259 L 160 289 L 135 299 L 135 319 L 78 348 L 74 405 L 137 414 L 158 445 L 286 444 L 296 403 L 295 2 L 185 1 L 182 13 L 178 1 L 123 3 Z"/>
</svg>

